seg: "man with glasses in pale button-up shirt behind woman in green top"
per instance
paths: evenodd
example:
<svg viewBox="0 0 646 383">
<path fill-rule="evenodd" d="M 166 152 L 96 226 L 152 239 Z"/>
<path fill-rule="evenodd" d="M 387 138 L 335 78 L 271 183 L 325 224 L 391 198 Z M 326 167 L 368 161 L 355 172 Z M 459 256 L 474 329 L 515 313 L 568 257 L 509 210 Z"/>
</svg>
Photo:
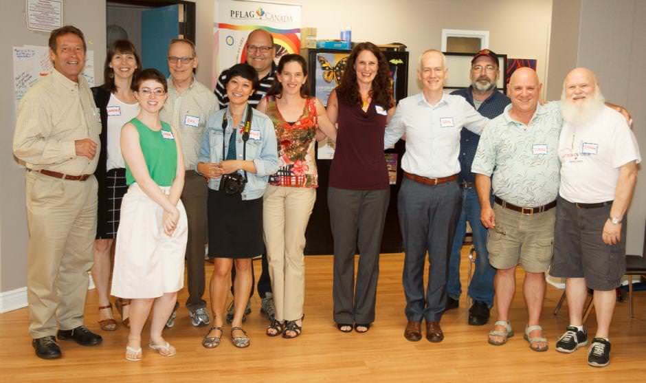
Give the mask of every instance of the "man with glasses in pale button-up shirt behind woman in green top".
<svg viewBox="0 0 646 383">
<path fill-rule="evenodd" d="M 208 87 L 195 80 L 197 68 L 195 45 L 188 39 L 173 39 L 168 45 L 168 100 L 161 109 L 160 117 L 181 135 L 184 155 L 184 188 L 181 201 L 188 217 L 188 243 L 186 265 L 188 269 L 188 299 L 186 308 L 193 326 L 210 322 L 206 301 L 202 299 L 205 289 L 204 245 L 208 241 L 206 201 L 208 188 L 205 179 L 197 174 L 197 154 L 209 114 L 216 110 L 217 100 Z M 175 305 L 166 327 L 175 325 Z"/>
</svg>

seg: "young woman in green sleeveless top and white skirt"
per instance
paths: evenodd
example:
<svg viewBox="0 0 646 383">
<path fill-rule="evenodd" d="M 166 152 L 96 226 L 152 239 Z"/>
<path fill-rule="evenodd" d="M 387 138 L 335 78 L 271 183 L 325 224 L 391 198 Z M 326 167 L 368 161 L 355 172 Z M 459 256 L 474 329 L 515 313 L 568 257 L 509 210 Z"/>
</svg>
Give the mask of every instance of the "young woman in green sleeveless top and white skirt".
<svg viewBox="0 0 646 383">
<path fill-rule="evenodd" d="M 159 120 L 167 97 L 166 78 L 145 69 L 133 90 L 141 110 L 121 133 L 129 189 L 121 207 L 112 294 L 131 298 L 126 360 L 136 361 L 142 359 L 141 333 L 151 309 L 148 347 L 162 356 L 175 355 L 161 331 L 183 286 L 188 229 L 179 200 L 184 185 L 179 137 Z"/>
</svg>

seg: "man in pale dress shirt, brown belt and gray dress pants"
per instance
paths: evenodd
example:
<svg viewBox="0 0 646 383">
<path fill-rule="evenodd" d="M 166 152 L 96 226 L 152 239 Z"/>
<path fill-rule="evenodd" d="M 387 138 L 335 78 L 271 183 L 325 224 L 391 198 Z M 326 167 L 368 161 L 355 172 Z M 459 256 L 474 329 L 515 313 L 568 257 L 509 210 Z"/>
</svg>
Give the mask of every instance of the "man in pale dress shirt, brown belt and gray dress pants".
<svg viewBox="0 0 646 383">
<path fill-rule="evenodd" d="M 418 78 L 421 94 L 399 102 L 386 127 L 385 146 L 406 135 L 401 168 L 404 180 L 399 191 L 399 223 L 405 259 L 403 287 L 408 325 L 404 337 L 421 339 L 421 320 L 426 320 L 426 338 L 441 342 L 439 325 L 446 304 L 448 257 L 460 214 L 460 131 L 480 134 L 487 123 L 461 96 L 445 94 L 447 76 L 444 55 L 427 50 L 420 58 Z M 423 287 L 424 256 L 431 264 L 426 292 Z"/>
</svg>

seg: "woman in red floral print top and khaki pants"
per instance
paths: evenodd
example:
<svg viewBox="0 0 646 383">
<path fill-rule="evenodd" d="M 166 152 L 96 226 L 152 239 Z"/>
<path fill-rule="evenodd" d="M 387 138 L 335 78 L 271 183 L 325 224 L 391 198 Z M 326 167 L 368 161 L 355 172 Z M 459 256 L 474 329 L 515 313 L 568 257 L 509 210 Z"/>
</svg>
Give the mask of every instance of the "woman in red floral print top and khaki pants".
<svg viewBox="0 0 646 383">
<path fill-rule="evenodd" d="M 274 86 L 258 110 L 274 122 L 278 172 L 263 196 L 265 248 L 276 318 L 267 336 L 296 338 L 302 330 L 305 292 L 305 228 L 316 199 L 314 140 L 335 140 L 336 129 L 317 98 L 309 97 L 307 64 L 298 54 L 282 56 Z"/>
</svg>

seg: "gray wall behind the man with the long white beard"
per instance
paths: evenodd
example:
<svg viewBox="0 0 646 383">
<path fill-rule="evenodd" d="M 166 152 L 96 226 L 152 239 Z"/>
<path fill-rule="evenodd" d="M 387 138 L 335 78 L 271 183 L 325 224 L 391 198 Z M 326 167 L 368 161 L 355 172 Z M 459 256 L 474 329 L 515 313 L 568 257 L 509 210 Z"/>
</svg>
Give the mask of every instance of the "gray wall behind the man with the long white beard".
<svg viewBox="0 0 646 383">
<path fill-rule="evenodd" d="M 573 67 L 592 69 L 605 98 L 632 113 L 634 132 L 646 155 L 646 1 L 554 0 L 552 10 L 548 97 L 560 97 L 563 79 Z M 644 177 L 640 171 L 628 211 L 629 254 L 643 252 Z"/>
</svg>

